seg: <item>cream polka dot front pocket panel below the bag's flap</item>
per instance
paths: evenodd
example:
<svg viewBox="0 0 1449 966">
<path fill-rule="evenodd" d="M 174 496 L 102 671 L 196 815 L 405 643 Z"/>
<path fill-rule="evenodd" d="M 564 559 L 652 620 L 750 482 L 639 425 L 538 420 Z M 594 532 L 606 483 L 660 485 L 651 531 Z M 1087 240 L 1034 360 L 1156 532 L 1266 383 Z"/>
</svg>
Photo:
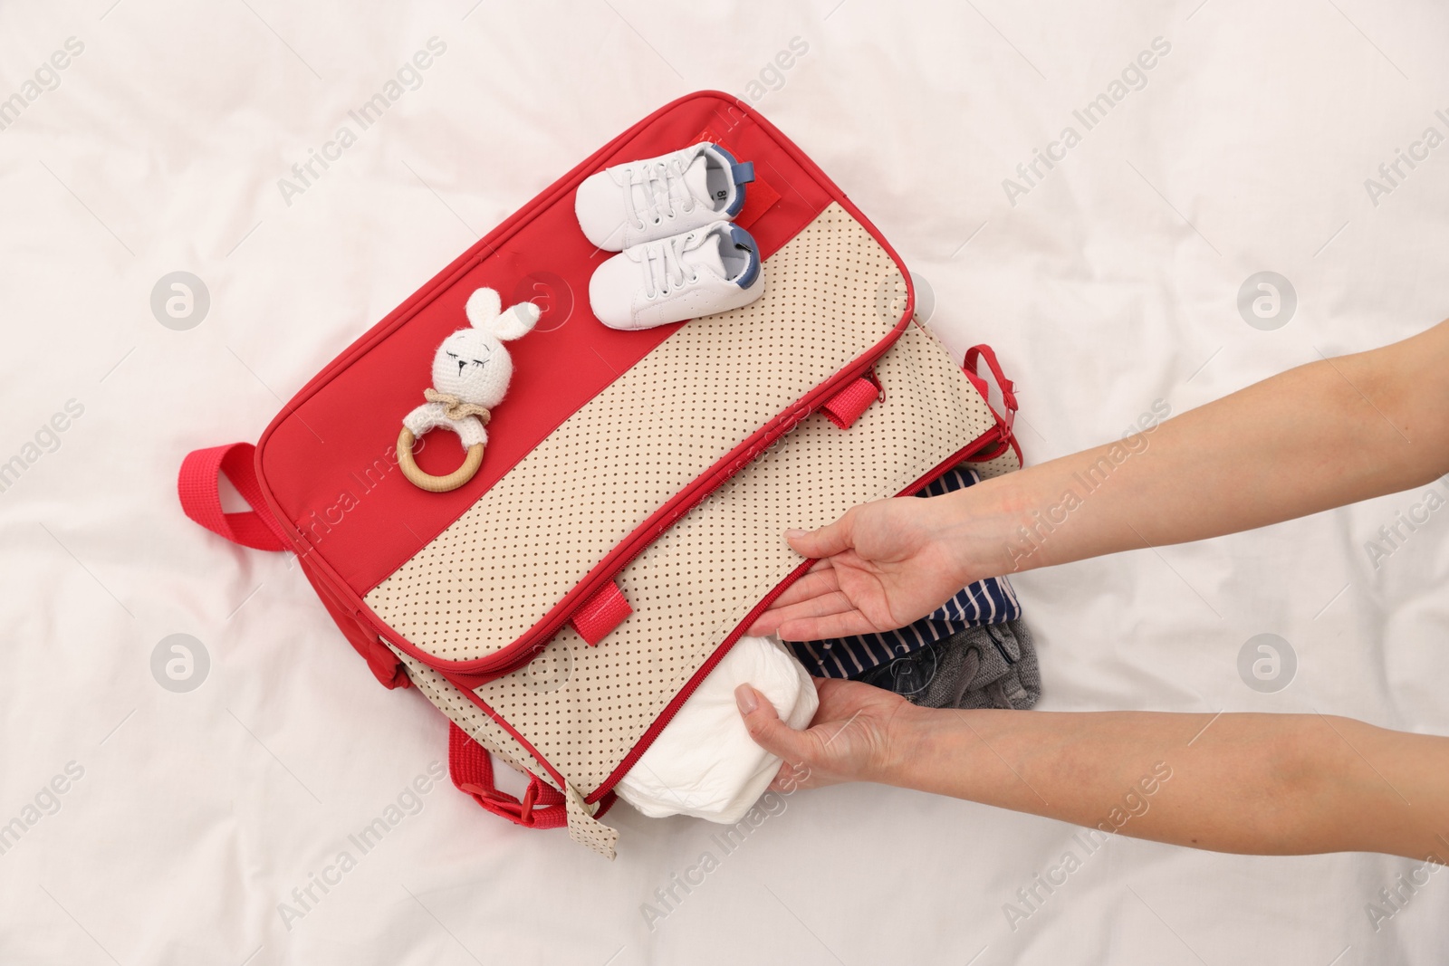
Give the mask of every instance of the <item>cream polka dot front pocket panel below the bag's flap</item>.
<svg viewBox="0 0 1449 966">
<path fill-rule="evenodd" d="M 478 697 L 569 782 L 597 789 L 800 563 L 787 527 L 819 527 L 858 503 L 893 497 L 995 424 L 919 326 L 882 356 L 877 375 L 885 401 L 849 430 L 809 417 L 625 568 L 619 585 L 635 610 L 600 646 L 565 627 L 533 665 L 483 685 Z"/>
</svg>

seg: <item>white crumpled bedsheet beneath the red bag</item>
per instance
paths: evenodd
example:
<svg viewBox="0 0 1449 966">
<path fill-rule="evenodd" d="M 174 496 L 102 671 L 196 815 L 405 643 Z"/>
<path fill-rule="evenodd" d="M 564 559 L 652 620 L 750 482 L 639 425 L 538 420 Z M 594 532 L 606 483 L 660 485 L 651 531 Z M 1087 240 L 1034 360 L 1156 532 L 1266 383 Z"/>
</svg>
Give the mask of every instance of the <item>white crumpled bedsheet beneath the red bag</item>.
<svg viewBox="0 0 1449 966">
<path fill-rule="evenodd" d="M 1009 921 L 1084 853 L 1075 828 L 851 786 L 777 799 L 729 850 L 620 807 L 609 863 L 446 782 L 407 792 L 446 760 L 443 718 L 375 684 L 285 558 L 183 517 L 174 484 L 585 154 L 706 87 L 758 96 L 929 281 L 955 350 L 997 348 L 1030 461 L 1406 336 L 1449 306 L 1449 146 L 1391 190 L 1365 178 L 1449 133 L 1442 6 L 0 6 L 0 97 L 39 71 L 0 130 L 0 462 L 26 461 L 0 492 L 0 823 L 35 818 L 0 854 L 0 963 L 1443 962 L 1449 873 L 1377 930 L 1365 911 L 1407 860 L 1122 839 Z M 83 51 L 52 75 L 68 38 Z M 359 130 L 349 112 L 429 38 L 446 49 L 422 84 Z M 1072 112 L 1155 38 L 1171 51 L 1088 130 Z M 329 148 L 342 125 L 355 143 Z M 1020 180 L 1066 126 L 1080 142 Z M 310 151 L 333 161 L 301 184 Z M 184 332 L 149 304 L 172 271 L 210 294 Z M 1261 271 L 1297 293 L 1277 330 L 1236 308 Z M 1377 568 L 1365 549 L 1421 503 L 1020 578 L 1042 707 L 1449 733 L 1449 511 Z M 1295 650 L 1278 694 L 1239 678 L 1258 633 Z M 194 691 L 152 675 L 170 634 L 206 650 Z M 364 853 L 349 836 L 390 807 Z"/>
</svg>

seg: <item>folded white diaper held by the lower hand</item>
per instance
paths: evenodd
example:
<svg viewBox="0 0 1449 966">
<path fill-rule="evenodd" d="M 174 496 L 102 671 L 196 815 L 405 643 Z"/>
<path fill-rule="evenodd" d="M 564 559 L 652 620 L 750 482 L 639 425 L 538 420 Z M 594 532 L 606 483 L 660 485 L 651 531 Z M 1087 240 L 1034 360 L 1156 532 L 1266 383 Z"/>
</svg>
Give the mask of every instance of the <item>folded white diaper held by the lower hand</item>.
<svg viewBox="0 0 1449 966">
<path fill-rule="evenodd" d="M 820 704 L 810 675 L 778 640 L 740 637 L 619 779 L 619 797 L 651 818 L 682 814 L 730 826 L 743 818 L 780 759 L 749 737 L 735 705 L 742 684 L 793 728 L 810 724 Z"/>
</svg>

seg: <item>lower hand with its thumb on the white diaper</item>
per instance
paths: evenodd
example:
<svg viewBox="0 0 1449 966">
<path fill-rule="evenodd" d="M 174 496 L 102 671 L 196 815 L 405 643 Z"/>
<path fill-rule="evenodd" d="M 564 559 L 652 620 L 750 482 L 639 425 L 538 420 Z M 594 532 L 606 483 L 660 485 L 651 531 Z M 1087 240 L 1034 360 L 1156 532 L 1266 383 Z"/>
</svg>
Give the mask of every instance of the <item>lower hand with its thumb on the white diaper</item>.
<svg viewBox="0 0 1449 966">
<path fill-rule="evenodd" d="M 859 681 L 813 681 L 820 708 L 804 731 L 781 721 L 775 707 L 748 684 L 735 689 L 749 736 L 784 759 L 771 788 L 793 792 L 839 782 L 882 781 L 909 757 L 901 726 L 914 711 L 913 704 Z"/>
</svg>

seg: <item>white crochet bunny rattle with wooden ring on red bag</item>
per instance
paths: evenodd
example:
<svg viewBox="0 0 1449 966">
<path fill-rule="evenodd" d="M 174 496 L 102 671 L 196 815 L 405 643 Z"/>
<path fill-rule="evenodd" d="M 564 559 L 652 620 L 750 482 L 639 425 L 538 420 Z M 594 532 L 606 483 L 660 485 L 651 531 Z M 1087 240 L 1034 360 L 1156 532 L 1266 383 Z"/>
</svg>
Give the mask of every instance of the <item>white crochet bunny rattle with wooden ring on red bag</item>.
<svg viewBox="0 0 1449 966">
<path fill-rule="evenodd" d="M 433 388 L 423 390 L 427 401 L 403 417 L 397 436 L 397 465 L 407 479 L 430 492 L 448 492 L 464 485 L 483 465 L 488 442 L 490 410 L 503 401 L 513 378 L 513 359 L 503 343 L 522 339 L 539 320 L 539 307 L 520 301 L 500 311 L 498 293 L 480 288 L 468 297 L 468 329 L 452 333 L 433 356 Z M 462 465 L 446 476 L 425 474 L 413 461 L 413 443 L 432 429 L 458 433 L 468 450 Z"/>
</svg>

